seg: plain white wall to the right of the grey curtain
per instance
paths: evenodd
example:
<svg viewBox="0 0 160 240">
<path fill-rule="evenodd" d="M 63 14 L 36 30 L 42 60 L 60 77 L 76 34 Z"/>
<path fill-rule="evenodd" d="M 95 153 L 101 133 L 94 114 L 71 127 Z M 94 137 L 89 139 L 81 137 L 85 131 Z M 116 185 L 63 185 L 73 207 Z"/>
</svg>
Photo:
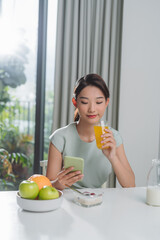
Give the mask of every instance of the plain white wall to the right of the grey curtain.
<svg viewBox="0 0 160 240">
<path fill-rule="evenodd" d="M 124 0 L 119 131 L 136 186 L 158 157 L 160 0 Z"/>
</svg>

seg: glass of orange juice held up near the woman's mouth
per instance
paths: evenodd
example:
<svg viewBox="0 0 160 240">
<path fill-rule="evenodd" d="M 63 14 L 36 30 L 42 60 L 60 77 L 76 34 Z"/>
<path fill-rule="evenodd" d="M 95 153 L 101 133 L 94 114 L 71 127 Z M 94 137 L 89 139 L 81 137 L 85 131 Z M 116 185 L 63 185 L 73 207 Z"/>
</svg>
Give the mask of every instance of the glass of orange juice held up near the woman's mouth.
<svg viewBox="0 0 160 240">
<path fill-rule="evenodd" d="M 96 144 L 99 149 L 102 149 L 103 144 L 101 141 L 103 140 L 101 135 L 105 133 L 105 129 L 108 129 L 108 122 L 107 121 L 101 121 L 97 125 L 94 126 L 94 133 L 96 137 Z"/>
</svg>

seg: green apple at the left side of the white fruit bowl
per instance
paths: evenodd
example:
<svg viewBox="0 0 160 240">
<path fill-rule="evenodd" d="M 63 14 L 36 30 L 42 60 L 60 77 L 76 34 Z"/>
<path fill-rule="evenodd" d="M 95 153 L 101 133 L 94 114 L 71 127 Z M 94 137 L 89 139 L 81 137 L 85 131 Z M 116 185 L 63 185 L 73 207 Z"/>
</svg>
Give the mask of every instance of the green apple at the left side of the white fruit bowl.
<svg viewBox="0 0 160 240">
<path fill-rule="evenodd" d="M 19 195 L 22 198 L 35 199 L 38 196 L 39 187 L 34 181 L 24 180 L 19 185 Z"/>
</svg>

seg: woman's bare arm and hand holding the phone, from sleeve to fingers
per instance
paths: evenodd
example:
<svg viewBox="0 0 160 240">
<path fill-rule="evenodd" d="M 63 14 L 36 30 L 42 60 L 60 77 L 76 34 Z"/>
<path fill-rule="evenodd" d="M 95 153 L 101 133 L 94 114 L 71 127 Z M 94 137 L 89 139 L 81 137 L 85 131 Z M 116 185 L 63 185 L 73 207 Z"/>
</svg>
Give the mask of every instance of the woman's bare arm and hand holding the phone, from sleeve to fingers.
<svg viewBox="0 0 160 240">
<path fill-rule="evenodd" d="M 73 170 L 73 167 L 69 167 L 66 170 L 62 169 L 62 154 L 50 143 L 46 176 L 51 181 L 55 180 L 53 186 L 63 190 L 66 187 L 65 185 L 71 186 L 83 178 L 80 171 L 70 172 L 71 170 Z"/>
</svg>

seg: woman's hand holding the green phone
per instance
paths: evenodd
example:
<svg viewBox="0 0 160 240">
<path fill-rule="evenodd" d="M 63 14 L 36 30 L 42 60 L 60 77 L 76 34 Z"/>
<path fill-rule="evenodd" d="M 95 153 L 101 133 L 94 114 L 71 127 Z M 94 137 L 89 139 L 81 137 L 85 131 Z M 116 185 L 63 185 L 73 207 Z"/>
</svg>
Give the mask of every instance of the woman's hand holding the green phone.
<svg viewBox="0 0 160 240">
<path fill-rule="evenodd" d="M 69 167 L 67 169 L 62 169 L 61 172 L 57 175 L 57 181 L 62 184 L 63 186 L 69 185 L 71 186 L 75 182 L 81 180 L 83 178 L 83 174 L 81 171 L 73 171 L 74 167 Z"/>
</svg>

